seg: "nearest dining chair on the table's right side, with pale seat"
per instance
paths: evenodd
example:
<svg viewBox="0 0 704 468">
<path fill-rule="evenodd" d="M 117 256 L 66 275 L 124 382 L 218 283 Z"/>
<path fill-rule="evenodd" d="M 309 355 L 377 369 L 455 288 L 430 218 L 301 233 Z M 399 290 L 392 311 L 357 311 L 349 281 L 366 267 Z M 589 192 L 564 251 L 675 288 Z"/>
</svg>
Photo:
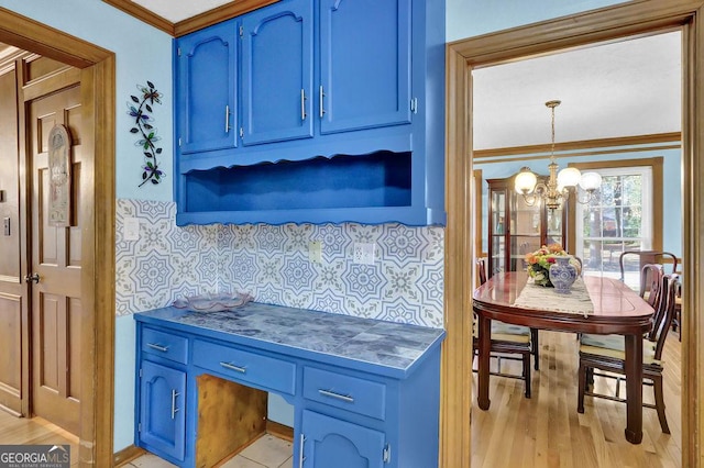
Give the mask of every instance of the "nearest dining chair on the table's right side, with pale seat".
<svg viewBox="0 0 704 468">
<path fill-rule="evenodd" d="M 662 388 L 664 363 L 662 361 L 662 350 L 674 314 L 674 298 L 679 287 L 679 275 L 662 275 L 652 326 L 647 336 L 644 337 L 644 385 L 653 388 L 654 404 L 644 403 L 642 405 L 658 411 L 660 427 L 666 434 L 670 434 L 670 427 L 668 426 L 664 412 Z M 584 395 L 626 402 L 626 400 L 619 395 L 620 381 L 626 374 L 625 361 L 625 338 L 623 335 L 593 335 L 586 333 L 582 335 L 580 341 L 580 368 L 578 375 L 576 411 L 579 413 L 584 413 Z M 608 374 L 597 374 L 594 369 L 600 369 Z M 616 379 L 615 394 L 597 393 L 591 389 L 591 386 L 594 383 L 594 377 Z"/>
</svg>

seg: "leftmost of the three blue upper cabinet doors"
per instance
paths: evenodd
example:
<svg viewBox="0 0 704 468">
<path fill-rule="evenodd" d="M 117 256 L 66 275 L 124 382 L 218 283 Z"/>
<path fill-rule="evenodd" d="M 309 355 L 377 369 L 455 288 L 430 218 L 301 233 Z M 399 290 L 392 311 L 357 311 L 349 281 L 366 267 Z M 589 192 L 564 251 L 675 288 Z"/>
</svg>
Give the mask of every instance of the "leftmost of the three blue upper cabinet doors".
<svg viewBox="0 0 704 468">
<path fill-rule="evenodd" d="M 178 38 L 176 116 L 180 153 L 237 146 L 237 23 Z"/>
</svg>

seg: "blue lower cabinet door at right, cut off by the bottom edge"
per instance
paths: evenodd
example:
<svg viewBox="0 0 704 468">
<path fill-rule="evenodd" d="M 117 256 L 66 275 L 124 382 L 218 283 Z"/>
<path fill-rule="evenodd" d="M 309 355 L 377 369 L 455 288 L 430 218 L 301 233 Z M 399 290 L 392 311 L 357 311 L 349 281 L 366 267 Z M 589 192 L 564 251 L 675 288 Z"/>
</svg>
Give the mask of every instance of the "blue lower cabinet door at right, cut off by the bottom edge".
<svg viewBox="0 0 704 468">
<path fill-rule="evenodd" d="M 301 433 L 305 468 L 382 468 L 382 432 L 304 410 Z"/>
</svg>

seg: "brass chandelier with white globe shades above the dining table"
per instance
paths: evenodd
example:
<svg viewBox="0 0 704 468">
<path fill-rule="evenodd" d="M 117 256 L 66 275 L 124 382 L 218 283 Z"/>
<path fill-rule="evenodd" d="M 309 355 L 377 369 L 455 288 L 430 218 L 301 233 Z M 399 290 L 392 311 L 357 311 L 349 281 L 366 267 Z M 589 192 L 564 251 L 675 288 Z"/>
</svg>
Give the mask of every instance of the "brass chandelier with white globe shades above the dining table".
<svg viewBox="0 0 704 468">
<path fill-rule="evenodd" d="M 570 197 L 570 191 L 574 190 L 576 201 L 588 203 L 594 191 L 602 185 L 602 176 L 597 172 L 580 172 L 576 167 L 566 167 L 558 172 L 558 164 L 554 161 L 554 108 L 560 105 L 560 101 L 548 101 L 546 107 L 552 111 L 552 146 L 550 148 L 550 175 L 548 181 L 538 181 L 538 176 L 529 167 L 522 167 L 514 179 L 514 188 L 524 197 L 524 201 L 529 207 L 537 202 L 544 202 L 550 210 L 556 210 Z M 586 197 L 579 197 L 579 189 L 586 193 Z"/>
</svg>

